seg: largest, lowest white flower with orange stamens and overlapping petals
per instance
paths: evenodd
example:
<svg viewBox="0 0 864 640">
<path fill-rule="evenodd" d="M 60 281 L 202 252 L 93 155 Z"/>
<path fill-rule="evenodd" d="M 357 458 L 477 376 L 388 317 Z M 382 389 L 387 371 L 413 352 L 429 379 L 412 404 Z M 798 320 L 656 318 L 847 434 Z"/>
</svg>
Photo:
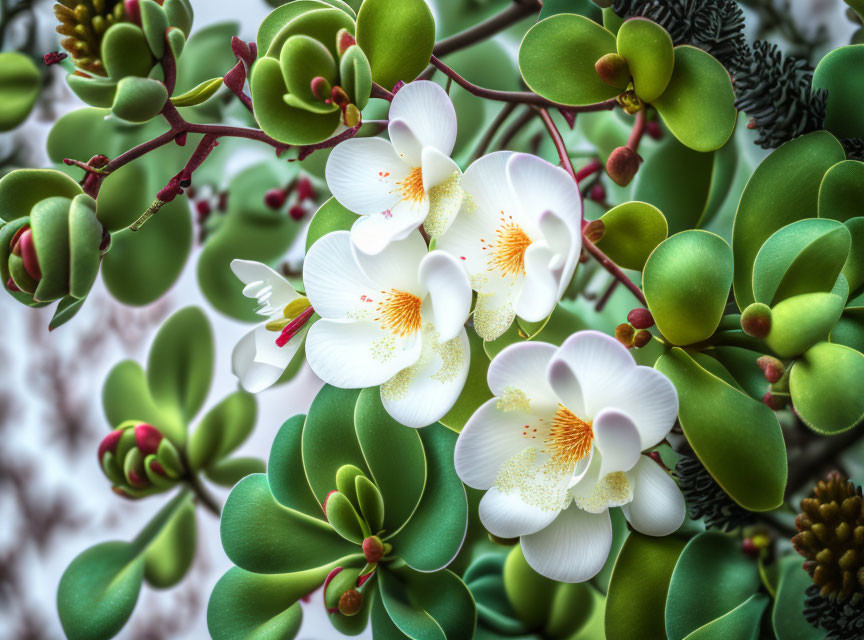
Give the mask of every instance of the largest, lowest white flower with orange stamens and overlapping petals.
<svg viewBox="0 0 864 640">
<path fill-rule="evenodd" d="M 664 536 L 684 521 L 675 481 L 641 452 L 661 442 L 678 413 L 672 383 L 637 366 L 617 340 L 581 331 L 561 347 L 523 342 L 489 366 L 496 397 L 456 442 L 456 472 L 485 489 L 483 526 L 521 537 L 538 573 L 582 582 L 606 562 L 610 507 L 637 531 Z"/>
</svg>

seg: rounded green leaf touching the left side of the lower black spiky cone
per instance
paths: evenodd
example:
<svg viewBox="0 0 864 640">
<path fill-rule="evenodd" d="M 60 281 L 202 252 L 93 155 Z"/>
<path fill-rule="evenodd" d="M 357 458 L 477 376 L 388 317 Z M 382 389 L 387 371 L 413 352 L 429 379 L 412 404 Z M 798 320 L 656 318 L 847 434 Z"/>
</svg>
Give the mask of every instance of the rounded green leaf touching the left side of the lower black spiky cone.
<svg viewBox="0 0 864 640">
<path fill-rule="evenodd" d="M 690 45 L 675 47 L 672 79 L 653 106 L 672 135 L 696 151 L 726 144 L 738 117 L 729 73 L 710 54 Z"/>
</svg>

